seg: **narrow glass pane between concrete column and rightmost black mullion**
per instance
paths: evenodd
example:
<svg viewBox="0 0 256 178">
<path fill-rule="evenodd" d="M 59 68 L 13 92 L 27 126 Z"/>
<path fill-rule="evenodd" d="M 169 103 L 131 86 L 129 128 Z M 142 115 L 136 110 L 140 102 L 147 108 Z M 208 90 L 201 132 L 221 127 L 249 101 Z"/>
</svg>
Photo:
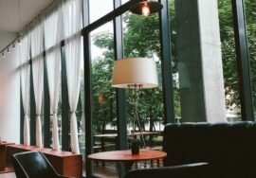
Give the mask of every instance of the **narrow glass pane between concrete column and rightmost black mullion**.
<svg viewBox="0 0 256 178">
<path fill-rule="evenodd" d="M 218 9 L 227 119 L 228 121 L 237 121 L 241 120 L 241 104 L 239 100 L 231 1 L 219 0 Z"/>
</svg>

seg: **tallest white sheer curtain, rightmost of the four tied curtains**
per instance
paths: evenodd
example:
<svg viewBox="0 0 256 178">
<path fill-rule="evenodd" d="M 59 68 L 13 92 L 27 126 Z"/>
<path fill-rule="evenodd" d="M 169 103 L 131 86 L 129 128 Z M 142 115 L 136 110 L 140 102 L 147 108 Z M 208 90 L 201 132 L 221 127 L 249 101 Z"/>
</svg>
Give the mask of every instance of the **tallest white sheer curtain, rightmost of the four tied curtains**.
<svg viewBox="0 0 256 178">
<path fill-rule="evenodd" d="M 64 14 L 64 38 L 65 62 L 67 73 L 68 100 L 71 112 L 70 140 L 71 150 L 80 153 L 78 142 L 78 126 L 76 110 L 80 94 L 81 79 L 81 41 L 80 30 L 82 28 L 82 0 L 70 0 L 63 6 Z"/>
</svg>

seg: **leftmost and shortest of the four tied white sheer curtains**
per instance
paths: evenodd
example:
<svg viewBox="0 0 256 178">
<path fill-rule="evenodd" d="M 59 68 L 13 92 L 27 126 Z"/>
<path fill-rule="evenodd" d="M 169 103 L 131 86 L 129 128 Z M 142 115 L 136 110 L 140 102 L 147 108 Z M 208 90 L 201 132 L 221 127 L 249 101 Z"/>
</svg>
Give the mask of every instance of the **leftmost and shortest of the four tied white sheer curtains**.
<svg viewBox="0 0 256 178">
<path fill-rule="evenodd" d="M 30 144 L 29 134 L 29 120 L 28 120 L 28 107 L 29 107 L 29 88 L 30 88 L 30 65 L 29 65 L 29 40 L 25 36 L 22 39 L 22 45 L 20 46 L 20 62 L 21 62 L 21 91 L 22 91 L 22 102 L 24 109 L 24 144 Z"/>
</svg>

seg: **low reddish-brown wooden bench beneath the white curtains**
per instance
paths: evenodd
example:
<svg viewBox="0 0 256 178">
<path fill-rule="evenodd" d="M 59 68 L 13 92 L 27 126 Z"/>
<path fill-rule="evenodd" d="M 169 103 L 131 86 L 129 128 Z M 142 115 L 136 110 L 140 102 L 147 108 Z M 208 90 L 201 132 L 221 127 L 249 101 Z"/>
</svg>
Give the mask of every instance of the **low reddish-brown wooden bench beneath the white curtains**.
<svg viewBox="0 0 256 178">
<path fill-rule="evenodd" d="M 9 145 L 7 147 L 9 159 L 12 154 L 23 151 L 41 151 L 59 174 L 82 178 L 82 154 L 25 145 Z"/>
</svg>

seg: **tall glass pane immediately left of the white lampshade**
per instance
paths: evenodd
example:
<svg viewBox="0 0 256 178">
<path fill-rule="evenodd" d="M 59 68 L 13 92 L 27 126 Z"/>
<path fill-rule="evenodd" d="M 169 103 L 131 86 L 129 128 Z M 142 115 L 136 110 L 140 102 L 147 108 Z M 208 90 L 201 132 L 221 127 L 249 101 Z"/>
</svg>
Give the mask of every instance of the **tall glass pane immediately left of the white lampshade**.
<svg viewBox="0 0 256 178">
<path fill-rule="evenodd" d="M 111 85 L 114 64 L 113 22 L 90 33 L 93 95 L 94 152 L 116 150 L 117 108 L 116 92 Z M 114 163 L 96 163 L 96 173 L 101 165 L 116 169 Z M 114 172 L 114 174 L 116 171 Z"/>
</svg>

